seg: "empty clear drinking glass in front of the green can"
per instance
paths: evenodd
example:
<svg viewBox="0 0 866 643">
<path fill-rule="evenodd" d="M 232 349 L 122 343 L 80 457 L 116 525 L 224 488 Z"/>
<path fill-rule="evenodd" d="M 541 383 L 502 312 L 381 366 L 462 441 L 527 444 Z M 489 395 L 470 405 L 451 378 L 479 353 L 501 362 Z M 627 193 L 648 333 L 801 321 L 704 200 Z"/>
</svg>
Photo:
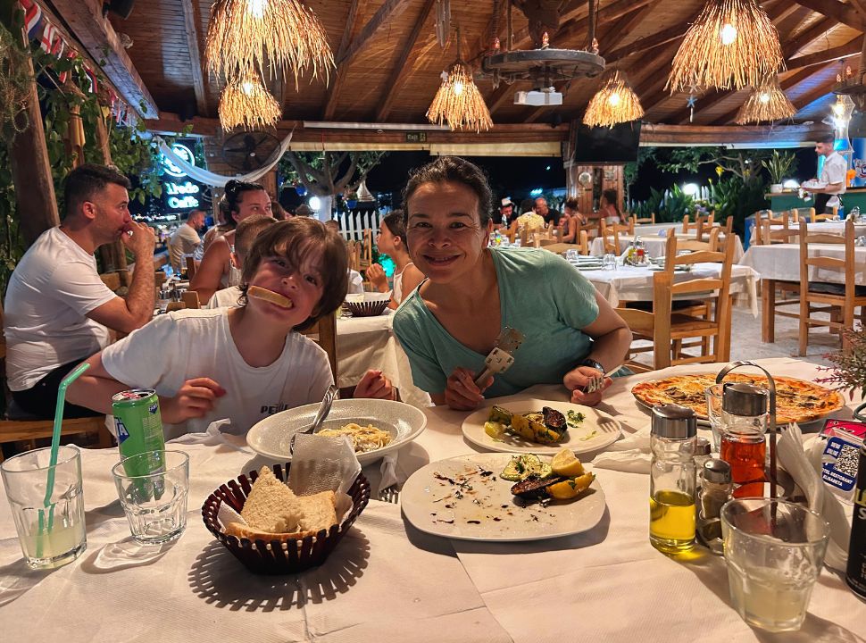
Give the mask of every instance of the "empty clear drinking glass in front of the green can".
<svg viewBox="0 0 866 643">
<path fill-rule="evenodd" d="M 150 473 L 135 474 L 142 471 Z M 158 545 L 180 537 L 187 528 L 187 454 L 145 451 L 130 455 L 114 465 L 112 476 L 132 538 L 142 545 Z"/>
</svg>

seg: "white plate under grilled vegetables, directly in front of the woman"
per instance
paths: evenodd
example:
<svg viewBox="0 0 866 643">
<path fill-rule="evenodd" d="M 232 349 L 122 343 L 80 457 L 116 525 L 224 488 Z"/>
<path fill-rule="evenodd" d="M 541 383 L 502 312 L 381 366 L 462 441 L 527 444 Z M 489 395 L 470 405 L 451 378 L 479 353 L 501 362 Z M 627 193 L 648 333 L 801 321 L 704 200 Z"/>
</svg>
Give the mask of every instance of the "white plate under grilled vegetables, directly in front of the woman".
<svg viewBox="0 0 866 643">
<path fill-rule="evenodd" d="M 592 406 L 573 405 L 568 402 L 551 402 L 550 400 L 523 399 L 515 402 L 505 400 L 499 406 L 512 413 L 532 413 L 541 411 L 542 406 L 550 406 L 563 415 L 569 411 L 578 411 L 586 416 L 582 425 L 576 429 L 569 428 L 568 439 L 557 442 L 554 445 L 542 445 L 530 442 L 526 438 L 505 434 L 501 440 L 491 438 L 484 432 L 484 422 L 487 422 L 490 409 L 493 405 L 487 405 L 472 413 L 463 421 L 463 436 L 472 444 L 488 451 L 501 451 L 504 453 L 537 453 L 553 454 L 562 447 L 568 447 L 576 454 L 598 451 L 604 447 L 610 447 L 620 438 L 622 427 L 620 422 L 614 420 L 610 415 L 594 409 Z M 595 435 L 593 435 L 595 431 Z"/>
</svg>

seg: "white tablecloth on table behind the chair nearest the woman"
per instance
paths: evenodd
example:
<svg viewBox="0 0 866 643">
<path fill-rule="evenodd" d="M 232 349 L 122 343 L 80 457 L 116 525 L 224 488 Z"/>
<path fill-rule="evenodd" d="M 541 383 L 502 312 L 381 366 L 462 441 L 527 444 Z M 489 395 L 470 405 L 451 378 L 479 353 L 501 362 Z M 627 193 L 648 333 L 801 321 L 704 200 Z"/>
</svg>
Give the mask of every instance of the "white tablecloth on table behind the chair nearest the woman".
<svg viewBox="0 0 866 643">
<path fill-rule="evenodd" d="M 718 277 L 720 271 L 720 263 L 695 263 L 691 271 L 674 272 L 674 281 Z M 654 271 L 648 267 L 618 265 L 615 271 L 581 272 L 612 306 L 628 301 L 653 301 Z M 743 265 L 731 267 L 730 292 L 744 300 L 755 317 L 758 316 L 757 280 L 758 275 L 751 268 Z"/>
</svg>

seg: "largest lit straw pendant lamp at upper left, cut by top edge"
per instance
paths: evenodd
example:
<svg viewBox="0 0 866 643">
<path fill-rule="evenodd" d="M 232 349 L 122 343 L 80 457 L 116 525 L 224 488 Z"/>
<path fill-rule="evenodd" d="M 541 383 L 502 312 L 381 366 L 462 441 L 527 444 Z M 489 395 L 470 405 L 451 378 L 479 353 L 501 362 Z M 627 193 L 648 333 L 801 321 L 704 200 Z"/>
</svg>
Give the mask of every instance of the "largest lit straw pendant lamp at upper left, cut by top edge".
<svg viewBox="0 0 866 643">
<path fill-rule="evenodd" d="M 295 76 L 328 75 L 334 55 L 321 22 L 297 0 L 217 0 L 211 6 L 204 58 L 209 70 L 229 82 L 257 70 Z"/>
</svg>

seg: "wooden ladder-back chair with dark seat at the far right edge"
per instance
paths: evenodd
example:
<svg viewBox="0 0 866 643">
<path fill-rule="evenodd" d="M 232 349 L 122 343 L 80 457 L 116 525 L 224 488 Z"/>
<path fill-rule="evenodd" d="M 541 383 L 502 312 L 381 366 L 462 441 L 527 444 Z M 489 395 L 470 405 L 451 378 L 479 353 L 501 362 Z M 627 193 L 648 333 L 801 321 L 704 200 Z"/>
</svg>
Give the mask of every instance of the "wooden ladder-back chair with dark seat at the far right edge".
<svg viewBox="0 0 866 643">
<path fill-rule="evenodd" d="M 809 244 L 838 244 L 845 246 L 844 257 L 810 256 Z M 866 313 L 866 288 L 857 286 L 854 271 L 854 221 L 845 221 L 845 234 L 810 234 L 804 221 L 800 222 L 800 281 L 804 284 L 800 293 L 800 337 L 798 355 L 805 355 L 809 345 L 809 329 L 825 326 L 841 331 L 854 328 L 854 308 L 860 307 L 861 321 Z M 809 280 L 809 269 L 838 271 L 842 283 L 827 283 Z M 819 320 L 812 313 L 829 313 L 830 319 Z M 841 334 L 841 332 L 840 332 Z M 842 348 L 847 348 L 842 335 Z"/>
</svg>

